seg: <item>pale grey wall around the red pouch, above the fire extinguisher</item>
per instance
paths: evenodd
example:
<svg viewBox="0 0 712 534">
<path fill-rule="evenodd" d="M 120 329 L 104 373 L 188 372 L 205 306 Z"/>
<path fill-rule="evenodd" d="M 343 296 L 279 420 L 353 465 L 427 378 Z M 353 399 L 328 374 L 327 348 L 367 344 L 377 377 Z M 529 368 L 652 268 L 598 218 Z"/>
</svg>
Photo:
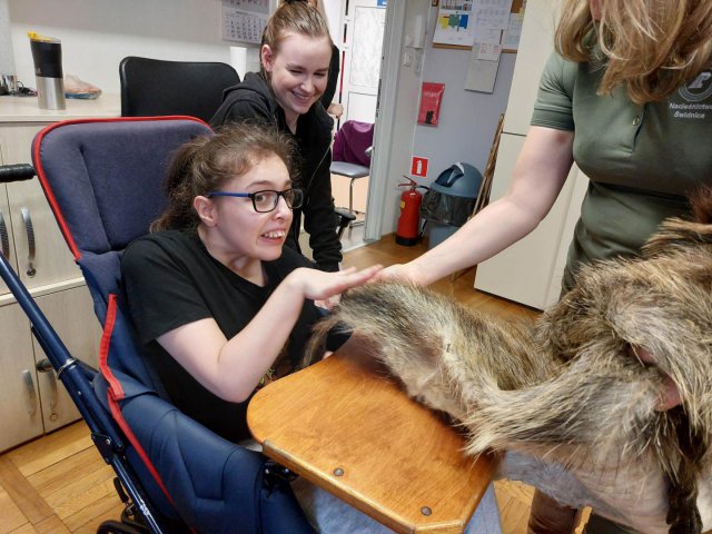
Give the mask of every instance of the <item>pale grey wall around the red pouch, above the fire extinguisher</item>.
<svg viewBox="0 0 712 534">
<path fill-rule="evenodd" d="M 505 111 L 507 105 L 516 61 L 514 53 L 502 56 L 493 93 L 466 91 L 464 85 L 469 51 L 433 48 L 437 8 L 433 8 L 428 0 L 389 1 L 406 2 L 404 41 L 407 36 L 413 36 L 417 16 L 425 18 L 427 34 L 421 72 L 416 72 L 416 61 L 409 67 L 403 65 L 405 43 L 402 43 L 398 59 L 393 66 L 398 68 L 397 102 L 394 142 L 389 147 L 390 165 L 386 177 L 388 184 L 385 188 L 382 235 L 396 229 L 398 199 L 403 191 L 396 186 L 399 181 L 405 181 L 403 175 L 411 176 L 412 156 L 429 159 L 427 178 L 416 178 L 426 185 L 455 161 L 469 162 L 484 171 L 500 113 Z M 445 83 L 439 123 L 435 128 L 417 125 L 423 81 Z"/>
</svg>

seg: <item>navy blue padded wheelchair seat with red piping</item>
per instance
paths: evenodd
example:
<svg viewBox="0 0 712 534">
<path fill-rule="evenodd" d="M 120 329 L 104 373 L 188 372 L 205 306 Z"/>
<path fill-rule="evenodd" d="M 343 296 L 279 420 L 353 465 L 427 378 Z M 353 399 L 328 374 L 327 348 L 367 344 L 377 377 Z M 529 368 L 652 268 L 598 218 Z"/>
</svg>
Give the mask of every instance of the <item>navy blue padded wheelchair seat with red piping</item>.
<svg viewBox="0 0 712 534">
<path fill-rule="evenodd" d="M 211 135 L 207 125 L 186 117 L 65 121 L 38 134 L 32 158 L 105 325 L 95 393 L 126 436 L 122 454 L 165 532 L 312 532 L 286 483 L 265 486 L 261 455 L 170 404 L 117 297 L 123 248 L 165 206 L 171 154 L 205 135 Z"/>
</svg>

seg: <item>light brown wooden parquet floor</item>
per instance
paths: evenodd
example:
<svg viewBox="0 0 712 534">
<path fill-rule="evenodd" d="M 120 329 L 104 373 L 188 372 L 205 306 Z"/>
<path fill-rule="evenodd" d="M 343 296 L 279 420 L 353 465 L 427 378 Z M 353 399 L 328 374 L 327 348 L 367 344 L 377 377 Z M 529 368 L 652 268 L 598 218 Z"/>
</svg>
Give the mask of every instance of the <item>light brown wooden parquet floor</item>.
<svg viewBox="0 0 712 534">
<path fill-rule="evenodd" d="M 405 263 L 424 248 L 400 247 L 386 236 L 345 255 L 345 266 Z M 474 270 L 433 287 L 472 309 L 501 318 L 533 316 L 516 304 L 473 289 Z M 103 464 L 83 423 L 0 455 L 0 534 L 93 533 L 99 523 L 118 518 L 121 505 L 113 472 Z M 532 488 L 520 483 L 495 484 L 505 534 L 525 534 Z M 578 532 L 578 530 L 576 531 Z"/>
</svg>

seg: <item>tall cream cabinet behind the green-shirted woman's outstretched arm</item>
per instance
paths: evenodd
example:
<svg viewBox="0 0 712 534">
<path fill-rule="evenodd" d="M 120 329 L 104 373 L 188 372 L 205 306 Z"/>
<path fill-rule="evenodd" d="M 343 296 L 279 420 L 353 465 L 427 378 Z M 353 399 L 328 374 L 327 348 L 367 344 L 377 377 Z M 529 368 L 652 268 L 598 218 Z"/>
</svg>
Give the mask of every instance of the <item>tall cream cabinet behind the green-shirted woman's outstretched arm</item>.
<svg viewBox="0 0 712 534">
<path fill-rule="evenodd" d="M 553 50 L 555 0 L 528 0 L 512 90 L 492 182 L 492 200 L 510 184 L 536 101 L 538 79 Z M 546 218 L 522 240 L 477 267 L 475 288 L 544 309 L 555 303 L 566 253 L 589 179 L 575 166 Z"/>
</svg>

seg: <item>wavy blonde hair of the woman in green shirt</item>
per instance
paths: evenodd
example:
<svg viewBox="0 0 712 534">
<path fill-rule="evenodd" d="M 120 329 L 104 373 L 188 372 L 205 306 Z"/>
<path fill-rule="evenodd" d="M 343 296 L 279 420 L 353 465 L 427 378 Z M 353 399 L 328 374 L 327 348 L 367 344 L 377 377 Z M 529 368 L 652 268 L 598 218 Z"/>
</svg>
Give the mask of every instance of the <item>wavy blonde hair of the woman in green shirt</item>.
<svg viewBox="0 0 712 534">
<path fill-rule="evenodd" d="M 636 103 L 662 100 L 710 62 L 712 1 L 601 0 L 600 21 L 589 1 L 565 0 L 555 44 L 572 61 L 603 61 L 599 95 L 624 85 Z"/>
</svg>

